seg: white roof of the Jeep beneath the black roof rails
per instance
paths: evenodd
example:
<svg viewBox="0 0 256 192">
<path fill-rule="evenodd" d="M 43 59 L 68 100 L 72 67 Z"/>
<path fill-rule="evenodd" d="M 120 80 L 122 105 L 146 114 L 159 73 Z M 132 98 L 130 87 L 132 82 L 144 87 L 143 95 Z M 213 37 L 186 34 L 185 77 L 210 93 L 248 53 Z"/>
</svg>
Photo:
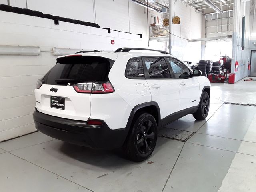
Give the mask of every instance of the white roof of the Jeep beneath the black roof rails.
<svg viewBox="0 0 256 192">
<path fill-rule="evenodd" d="M 100 56 L 109 58 L 112 60 L 116 60 L 117 57 L 126 57 L 126 58 L 133 58 L 133 57 L 142 57 L 142 56 L 169 56 L 176 58 L 175 56 L 171 54 L 164 54 L 164 53 L 158 53 L 158 52 L 88 52 L 88 53 L 78 53 L 78 54 L 70 54 L 66 56 L 74 56 L 74 55 L 82 55 L 82 56 Z M 65 57 L 65 56 L 59 56 Z"/>
</svg>

